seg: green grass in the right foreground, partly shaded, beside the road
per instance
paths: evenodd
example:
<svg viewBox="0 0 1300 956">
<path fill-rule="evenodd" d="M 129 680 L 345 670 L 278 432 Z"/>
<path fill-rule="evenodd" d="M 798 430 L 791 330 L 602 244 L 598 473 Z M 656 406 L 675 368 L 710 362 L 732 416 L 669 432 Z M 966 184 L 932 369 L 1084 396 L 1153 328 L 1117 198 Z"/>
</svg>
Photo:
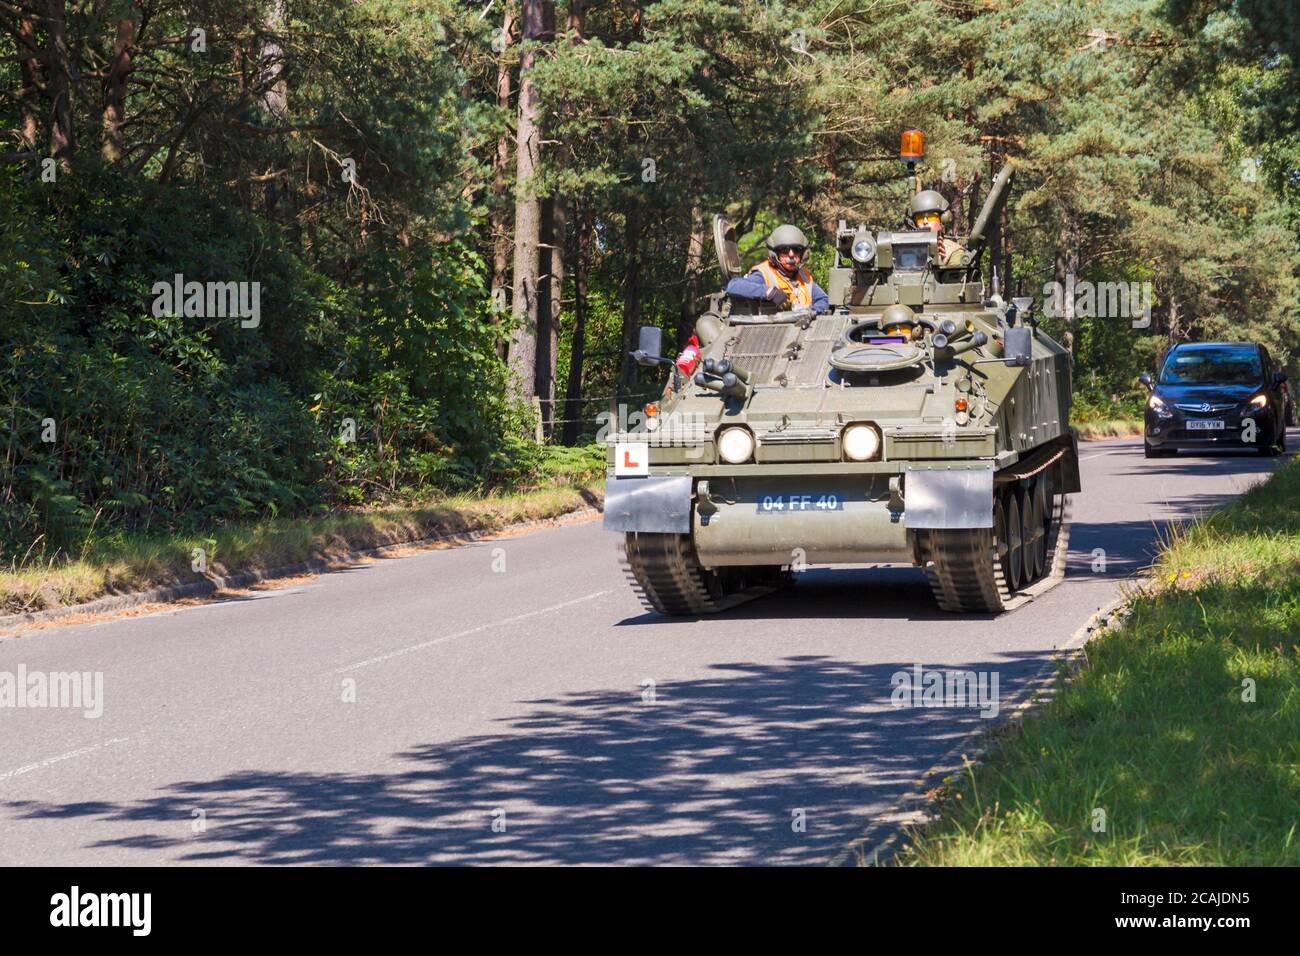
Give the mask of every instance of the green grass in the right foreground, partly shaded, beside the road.
<svg viewBox="0 0 1300 956">
<path fill-rule="evenodd" d="M 1065 676 L 1065 675 L 1063 675 Z M 1254 682 L 1256 700 L 1243 700 Z M 902 865 L 1300 865 L 1300 463 L 1166 542 Z M 1093 812 L 1105 810 L 1105 832 Z"/>
</svg>

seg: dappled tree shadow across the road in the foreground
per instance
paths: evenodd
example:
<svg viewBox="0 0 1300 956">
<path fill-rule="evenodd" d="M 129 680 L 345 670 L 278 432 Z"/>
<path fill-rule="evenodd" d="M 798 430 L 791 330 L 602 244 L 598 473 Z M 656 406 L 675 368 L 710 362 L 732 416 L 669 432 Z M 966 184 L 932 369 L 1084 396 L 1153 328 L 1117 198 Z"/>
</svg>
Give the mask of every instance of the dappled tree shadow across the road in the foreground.
<svg viewBox="0 0 1300 956">
<path fill-rule="evenodd" d="M 1049 658 L 965 667 L 996 670 L 1005 718 Z M 247 770 L 133 803 L 6 809 L 103 825 L 90 845 L 105 862 L 134 848 L 196 864 L 818 864 L 998 722 L 890 706 L 890 678 L 910 667 L 724 663 L 655 687 L 655 702 L 650 688 L 528 701 L 499 734 L 411 748 L 390 773 Z"/>
</svg>

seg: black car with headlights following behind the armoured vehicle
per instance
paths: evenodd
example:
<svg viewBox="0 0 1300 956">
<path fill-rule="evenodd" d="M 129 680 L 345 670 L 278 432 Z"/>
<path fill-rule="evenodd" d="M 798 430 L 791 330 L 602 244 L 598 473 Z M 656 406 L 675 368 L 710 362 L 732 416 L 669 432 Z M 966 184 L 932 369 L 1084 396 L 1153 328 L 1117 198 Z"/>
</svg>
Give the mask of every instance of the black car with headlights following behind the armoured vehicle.
<svg viewBox="0 0 1300 956">
<path fill-rule="evenodd" d="M 1262 345 L 1174 346 L 1154 382 L 1149 375 L 1141 376 L 1141 384 L 1150 389 L 1147 458 L 1213 447 L 1282 454 L 1287 449 L 1286 380 Z"/>
</svg>

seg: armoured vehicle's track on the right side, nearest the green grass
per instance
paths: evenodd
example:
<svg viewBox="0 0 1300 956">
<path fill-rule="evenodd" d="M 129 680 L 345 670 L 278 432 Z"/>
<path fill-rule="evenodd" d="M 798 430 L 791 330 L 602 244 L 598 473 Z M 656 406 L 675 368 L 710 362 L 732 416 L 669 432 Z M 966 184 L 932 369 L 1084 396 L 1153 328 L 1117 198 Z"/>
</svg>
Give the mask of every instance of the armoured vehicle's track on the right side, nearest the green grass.
<svg viewBox="0 0 1300 956">
<path fill-rule="evenodd" d="M 1019 607 L 1065 578 L 1070 551 L 1070 497 L 1053 496 L 1043 575 L 1017 592 L 1006 584 L 992 528 L 920 532 L 920 559 L 935 602 L 945 611 L 996 614 Z"/>
</svg>

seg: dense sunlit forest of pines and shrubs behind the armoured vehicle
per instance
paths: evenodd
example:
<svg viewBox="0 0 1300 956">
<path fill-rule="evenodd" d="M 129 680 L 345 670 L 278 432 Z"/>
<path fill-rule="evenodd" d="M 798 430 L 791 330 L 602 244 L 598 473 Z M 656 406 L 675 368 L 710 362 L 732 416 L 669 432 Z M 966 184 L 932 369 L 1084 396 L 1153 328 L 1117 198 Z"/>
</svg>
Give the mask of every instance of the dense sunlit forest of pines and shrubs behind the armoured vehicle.
<svg viewBox="0 0 1300 956">
<path fill-rule="evenodd" d="M 1080 415 L 1300 334 L 1291 0 L 0 0 L 0 551 L 545 480 L 716 291 L 715 213 L 978 209 Z"/>
</svg>

